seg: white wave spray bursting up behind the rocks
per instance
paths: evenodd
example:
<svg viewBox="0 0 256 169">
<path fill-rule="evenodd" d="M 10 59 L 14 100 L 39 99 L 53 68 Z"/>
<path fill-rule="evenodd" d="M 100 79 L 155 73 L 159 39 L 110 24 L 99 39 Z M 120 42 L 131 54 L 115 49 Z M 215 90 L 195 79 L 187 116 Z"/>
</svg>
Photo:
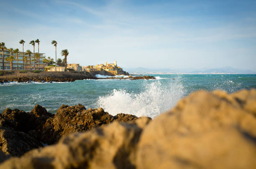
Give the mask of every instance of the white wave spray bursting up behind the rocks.
<svg viewBox="0 0 256 169">
<path fill-rule="evenodd" d="M 168 83 L 154 81 L 146 83 L 145 88 L 141 93 L 114 89 L 110 95 L 99 97 L 97 105 L 112 115 L 124 113 L 154 118 L 172 108 L 184 96 L 184 87 L 178 80 Z"/>
</svg>

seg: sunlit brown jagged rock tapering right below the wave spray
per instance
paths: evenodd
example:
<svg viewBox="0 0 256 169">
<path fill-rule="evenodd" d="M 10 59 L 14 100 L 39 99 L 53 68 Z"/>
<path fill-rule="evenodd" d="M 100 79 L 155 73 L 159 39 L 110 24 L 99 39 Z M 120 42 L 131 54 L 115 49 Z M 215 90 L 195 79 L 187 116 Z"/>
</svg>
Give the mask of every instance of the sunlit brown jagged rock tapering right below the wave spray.
<svg viewBox="0 0 256 169">
<path fill-rule="evenodd" d="M 133 121 L 136 116 L 118 114 L 111 116 L 102 108 L 88 109 L 83 105 L 77 106 L 62 105 L 53 118 L 49 118 L 42 129 L 41 141 L 47 144 L 54 144 L 61 136 L 74 132 L 90 130 L 94 127 L 109 124 L 114 120 Z"/>
</svg>

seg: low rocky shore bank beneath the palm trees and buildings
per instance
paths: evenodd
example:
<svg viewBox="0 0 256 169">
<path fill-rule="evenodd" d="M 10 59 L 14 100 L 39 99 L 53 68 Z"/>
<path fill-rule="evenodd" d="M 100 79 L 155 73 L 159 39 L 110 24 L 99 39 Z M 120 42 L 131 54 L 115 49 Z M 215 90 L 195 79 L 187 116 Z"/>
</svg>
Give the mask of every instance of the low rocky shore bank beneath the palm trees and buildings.
<svg viewBox="0 0 256 169">
<path fill-rule="evenodd" d="M 6 71 L 6 74 L 0 76 L 0 83 L 19 82 L 71 82 L 83 79 L 97 79 L 88 72 L 40 72 L 33 73 L 31 71 Z"/>
</svg>

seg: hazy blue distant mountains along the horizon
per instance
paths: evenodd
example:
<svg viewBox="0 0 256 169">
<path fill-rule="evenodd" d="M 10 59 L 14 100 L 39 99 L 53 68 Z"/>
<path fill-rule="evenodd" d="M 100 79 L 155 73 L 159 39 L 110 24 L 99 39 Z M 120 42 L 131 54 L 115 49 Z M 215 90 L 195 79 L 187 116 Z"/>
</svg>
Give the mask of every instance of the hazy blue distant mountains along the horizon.
<svg viewBox="0 0 256 169">
<path fill-rule="evenodd" d="M 150 68 L 124 68 L 130 74 L 256 74 L 255 71 L 237 69 L 232 67 L 221 68 L 179 68 L 179 69 L 150 69 Z"/>
</svg>

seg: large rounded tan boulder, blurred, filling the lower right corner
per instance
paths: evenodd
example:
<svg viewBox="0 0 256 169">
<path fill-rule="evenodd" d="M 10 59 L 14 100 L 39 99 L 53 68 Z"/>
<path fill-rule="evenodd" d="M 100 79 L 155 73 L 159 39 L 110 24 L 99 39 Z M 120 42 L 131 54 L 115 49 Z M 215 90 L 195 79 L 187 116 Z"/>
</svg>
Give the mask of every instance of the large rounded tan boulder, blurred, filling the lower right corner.
<svg viewBox="0 0 256 169">
<path fill-rule="evenodd" d="M 256 168 L 256 90 L 198 91 L 148 125 L 139 169 Z"/>
</svg>

